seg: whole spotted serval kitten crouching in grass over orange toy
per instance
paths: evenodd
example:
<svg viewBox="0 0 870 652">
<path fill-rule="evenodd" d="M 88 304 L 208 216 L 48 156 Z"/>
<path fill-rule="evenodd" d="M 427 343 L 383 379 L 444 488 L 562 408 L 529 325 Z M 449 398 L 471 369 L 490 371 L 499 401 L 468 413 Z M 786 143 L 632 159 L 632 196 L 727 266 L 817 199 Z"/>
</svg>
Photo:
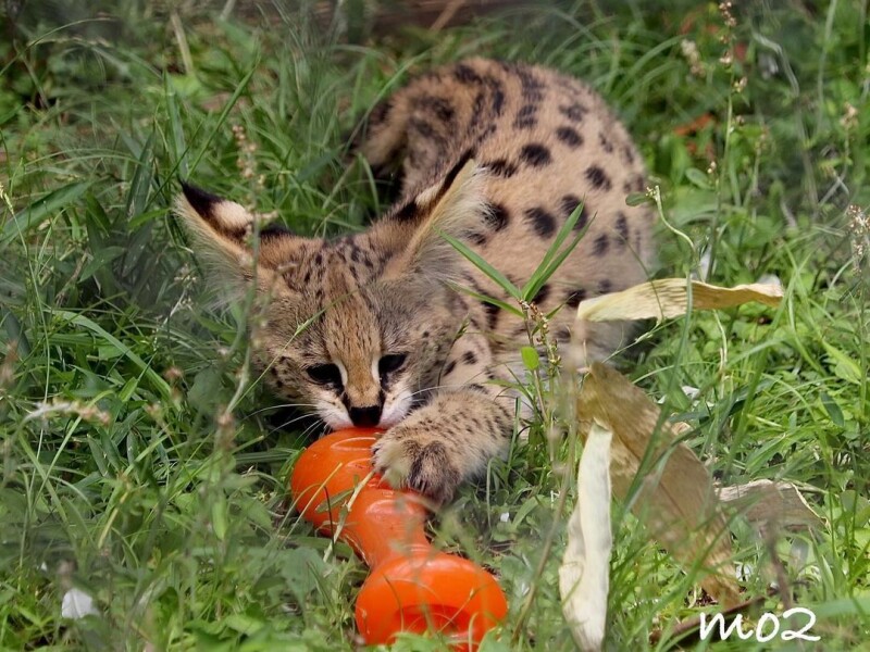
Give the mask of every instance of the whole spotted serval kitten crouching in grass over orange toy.
<svg viewBox="0 0 870 652">
<path fill-rule="evenodd" d="M 529 343 L 510 301 L 444 234 L 522 286 L 582 204 L 580 244 L 534 302 L 570 337 L 584 298 L 642 283 L 654 215 L 625 128 L 587 86 L 557 72 L 473 59 L 411 80 L 375 106 L 358 139 L 375 168 L 401 161 L 401 198 L 368 230 L 334 240 L 259 230 L 243 206 L 190 186 L 177 214 L 224 288 L 264 298 L 257 354 L 277 394 L 333 428 L 381 426 L 374 467 L 396 486 L 449 500 L 504 453 Z M 587 355 L 624 341 L 621 323 L 584 326 Z"/>
</svg>

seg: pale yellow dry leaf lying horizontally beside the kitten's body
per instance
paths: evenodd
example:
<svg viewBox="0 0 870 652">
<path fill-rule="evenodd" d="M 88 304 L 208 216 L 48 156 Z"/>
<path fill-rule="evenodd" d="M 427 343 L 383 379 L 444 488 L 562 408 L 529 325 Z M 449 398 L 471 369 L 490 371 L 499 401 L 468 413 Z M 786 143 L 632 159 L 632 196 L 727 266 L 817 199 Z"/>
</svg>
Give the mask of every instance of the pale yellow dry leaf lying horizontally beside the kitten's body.
<svg viewBox="0 0 870 652">
<path fill-rule="evenodd" d="M 699 280 L 661 278 L 621 292 L 581 301 L 577 306 L 576 319 L 579 322 L 609 322 L 679 317 L 688 311 L 689 288 L 692 289 L 693 310 L 733 308 L 749 301 L 779 305 L 782 300 L 782 286 L 778 284 L 755 283 L 721 288 Z"/>
</svg>

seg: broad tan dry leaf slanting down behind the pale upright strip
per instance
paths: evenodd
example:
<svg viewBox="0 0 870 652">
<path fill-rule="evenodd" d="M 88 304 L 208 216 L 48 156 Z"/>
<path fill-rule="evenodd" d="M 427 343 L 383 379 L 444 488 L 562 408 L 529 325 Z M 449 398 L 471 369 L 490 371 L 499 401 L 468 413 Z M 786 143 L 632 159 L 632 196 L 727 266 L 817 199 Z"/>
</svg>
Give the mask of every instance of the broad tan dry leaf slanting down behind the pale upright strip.
<svg viewBox="0 0 870 652">
<path fill-rule="evenodd" d="M 720 604 L 739 602 L 731 568 L 732 549 L 712 479 L 697 455 L 661 422 L 659 408 L 627 378 L 594 363 L 583 381 L 577 414 L 613 434 L 610 477 L 613 494 L 625 499 L 638 471 L 632 512 L 687 568 L 709 573 L 701 586 Z"/>
</svg>

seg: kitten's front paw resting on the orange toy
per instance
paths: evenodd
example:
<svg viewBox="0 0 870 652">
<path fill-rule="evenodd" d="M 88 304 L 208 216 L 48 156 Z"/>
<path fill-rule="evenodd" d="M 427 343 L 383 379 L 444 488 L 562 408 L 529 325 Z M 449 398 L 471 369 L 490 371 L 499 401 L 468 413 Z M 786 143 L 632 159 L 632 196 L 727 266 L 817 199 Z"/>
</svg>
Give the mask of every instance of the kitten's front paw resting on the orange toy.
<svg viewBox="0 0 870 652">
<path fill-rule="evenodd" d="M 409 487 L 438 503 L 448 502 L 461 474 L 444 441 L 430 428 L 402 426 L 385 432 L 372 447 L 374 469 L 393 487 Z"/>
</svg>

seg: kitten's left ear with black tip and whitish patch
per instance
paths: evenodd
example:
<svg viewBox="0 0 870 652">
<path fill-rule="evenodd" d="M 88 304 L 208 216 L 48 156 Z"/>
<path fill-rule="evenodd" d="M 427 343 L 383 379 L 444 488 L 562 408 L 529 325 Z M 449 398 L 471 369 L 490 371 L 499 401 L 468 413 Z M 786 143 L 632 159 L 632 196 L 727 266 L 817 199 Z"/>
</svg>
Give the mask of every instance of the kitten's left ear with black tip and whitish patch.
<svg viewBox="0 0 870 652">
<path fill-rule="evenodd" d="M 273 256 L 264 255 L 262 246 L 254 255 L 250 246 L 256 215 L 196 186 L 183 183 L 182 190 L 175 200 L 175 214 L 209 274 L 220 283 L 238 287 L 253 278 L 261 288 L 274 285 L 278 271 Z"/>
</svg>

